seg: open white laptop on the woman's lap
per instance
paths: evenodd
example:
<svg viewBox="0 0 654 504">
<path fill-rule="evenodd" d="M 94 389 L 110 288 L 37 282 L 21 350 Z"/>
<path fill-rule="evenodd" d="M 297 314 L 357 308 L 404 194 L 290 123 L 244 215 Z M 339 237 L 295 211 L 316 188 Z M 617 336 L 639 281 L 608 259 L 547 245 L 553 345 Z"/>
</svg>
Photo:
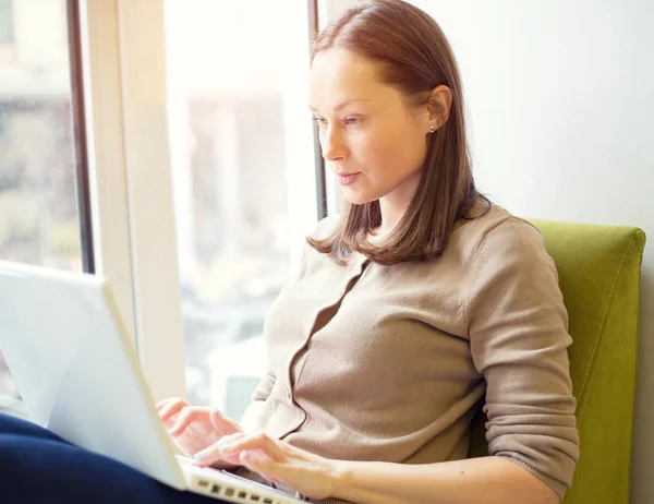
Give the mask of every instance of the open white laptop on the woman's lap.
<svg viewBox="0 0 654 504">
<path fill-rule="evenodd" d="M 175 455 L 105 279 L 0 261 L 0 348 L 29 419 L 68 442 L 178 490 L 305 502 Z"/>
</svg>

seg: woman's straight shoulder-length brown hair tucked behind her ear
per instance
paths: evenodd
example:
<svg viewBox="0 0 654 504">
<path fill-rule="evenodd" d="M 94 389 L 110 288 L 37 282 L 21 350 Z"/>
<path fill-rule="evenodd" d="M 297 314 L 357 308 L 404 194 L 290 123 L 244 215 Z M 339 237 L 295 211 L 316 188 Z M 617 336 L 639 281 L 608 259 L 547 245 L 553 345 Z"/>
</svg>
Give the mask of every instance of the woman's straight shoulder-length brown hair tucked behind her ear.
<svg viewBox="0 0 654 504">
<path fill-rule="evenodd" d="M 306 241 L 339 263 L 352 250 L 379 264 L 438 257 L 459 219 L 470 218 L 479 197 L 491 206 L 472 178 L 461 79 L 449 43 L 438 24 L 416 7 L 401 0 L 373 0 L 347 10 L 318 34 L 312 62 L 318 52 L 336 47 L 380 63 L 382 82 L 396 86 L 412 107 L 427 105 L 431 91 L 439 85 L 451 89 L 452 104 L 447 122 L 427 135 L 421 182 L 385 245 L 367 241 L 382 224 L 378 200 L 362 205 L 346 202 L 334 233 Z"/>
</svg>

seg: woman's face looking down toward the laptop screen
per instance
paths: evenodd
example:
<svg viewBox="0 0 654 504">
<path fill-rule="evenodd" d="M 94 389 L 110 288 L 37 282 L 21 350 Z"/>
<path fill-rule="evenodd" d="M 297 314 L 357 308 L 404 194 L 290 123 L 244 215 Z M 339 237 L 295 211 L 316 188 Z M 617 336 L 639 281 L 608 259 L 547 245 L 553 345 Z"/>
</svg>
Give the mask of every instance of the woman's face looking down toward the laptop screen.
<svg viewBox="0 0 654 504">
<path fill-rule="evenodd" d="M 410 199 L 427 135 L 438 125 L 426 106 L 409 108 L 377 73 L 376 63 L 344 49 L 318 52 L 311 69 L 310 108 L 319 124 L 323 157 L 353 204 L 389 195 Z"/>
</svg>

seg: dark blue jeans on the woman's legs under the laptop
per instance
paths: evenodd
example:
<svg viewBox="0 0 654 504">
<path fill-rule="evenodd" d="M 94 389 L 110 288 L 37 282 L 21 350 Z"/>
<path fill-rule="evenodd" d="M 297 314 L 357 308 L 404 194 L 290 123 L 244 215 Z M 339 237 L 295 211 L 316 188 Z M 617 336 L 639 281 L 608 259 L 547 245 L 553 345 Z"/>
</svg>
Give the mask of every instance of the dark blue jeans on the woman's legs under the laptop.
<svg viewBox="0 0 654 504">
<path fill-rule="evenodd" d="M 111 458 L 74 446 L 35 423 L 0 413 L 3 504 L 221 504 L 180 492 Z"/>
</svg>

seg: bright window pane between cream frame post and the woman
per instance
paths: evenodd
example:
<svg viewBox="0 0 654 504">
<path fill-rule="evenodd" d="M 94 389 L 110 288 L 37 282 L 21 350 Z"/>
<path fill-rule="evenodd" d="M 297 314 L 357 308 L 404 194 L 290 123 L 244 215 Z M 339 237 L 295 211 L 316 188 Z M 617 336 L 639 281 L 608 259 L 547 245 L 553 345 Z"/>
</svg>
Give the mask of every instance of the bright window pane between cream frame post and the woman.
<svg viewBox="0 0 654 504">
<path fill-rule="evenodd" d="M 239 419 L 266 368 L 266 312 L 316 221 L 307 12 L 165 7 L 189 399 Z"/>
</svg>

